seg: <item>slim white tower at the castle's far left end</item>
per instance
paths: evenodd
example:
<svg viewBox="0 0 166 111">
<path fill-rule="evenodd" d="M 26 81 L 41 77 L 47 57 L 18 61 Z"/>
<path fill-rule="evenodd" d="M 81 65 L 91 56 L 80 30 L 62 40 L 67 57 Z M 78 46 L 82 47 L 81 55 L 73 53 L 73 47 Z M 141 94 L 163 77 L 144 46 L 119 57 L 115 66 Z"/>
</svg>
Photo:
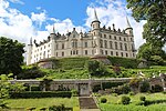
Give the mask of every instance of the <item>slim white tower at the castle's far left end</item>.
<svg viewBox="0 0 166 111">
<path fill-rule="evenodd" d="M 32 38 L 30 39 L 30 43 L 28 44 L 28 52 L 27 52 L 27 65 L 31 64 L 32 58 Z"/>
</svg>

